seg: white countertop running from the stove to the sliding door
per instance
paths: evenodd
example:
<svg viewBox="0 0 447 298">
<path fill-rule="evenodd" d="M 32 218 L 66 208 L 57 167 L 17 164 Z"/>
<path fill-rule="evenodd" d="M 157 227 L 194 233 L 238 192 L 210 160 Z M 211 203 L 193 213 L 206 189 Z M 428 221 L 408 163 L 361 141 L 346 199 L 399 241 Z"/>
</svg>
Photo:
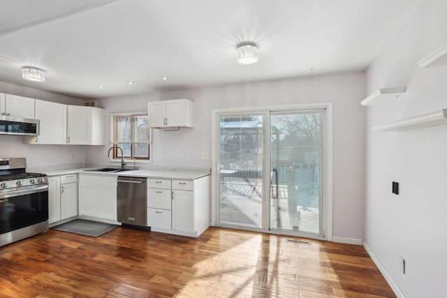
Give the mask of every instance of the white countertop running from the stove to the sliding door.
<svg viewBox="0 0 447 298">
<path fill-rule="evenodd" d="M 127 177 L 147 177 L 160 179 L 182 179 L 193 180 L 210 174 L 208 167 L 142 167 L 139 170 L 129 170 L 123 172 L 89 172 L 86 170 L 96 169 L 100 167 L 77 167 L 57 170 L 43 170 L 41 172 L 48 176 L 60 176 L 65 174 L 93 174 L 93 175 L 113 175 Z M 117 167 L 118 169 L 118 167 Z"/>
</svg>

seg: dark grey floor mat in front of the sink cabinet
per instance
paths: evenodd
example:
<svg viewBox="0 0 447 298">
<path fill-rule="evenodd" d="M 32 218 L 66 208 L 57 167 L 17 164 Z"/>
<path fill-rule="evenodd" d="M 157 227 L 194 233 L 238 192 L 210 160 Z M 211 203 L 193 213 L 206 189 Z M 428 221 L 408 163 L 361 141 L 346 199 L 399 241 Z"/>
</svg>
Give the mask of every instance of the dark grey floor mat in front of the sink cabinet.
<svg viewBox="0 0 447 298">
<path fill-rule="evenodd" d="M 85 219 L 75 219 L 68 223 L 62 223 L 52 227 L 53 230 L 81 234 L 85 236 L 98 237 L 106 232 L 109 232 L 119 225 L 112 225 L 110 223 L 99 223 L 97 221 L 86 221 Z"/>
</svg>

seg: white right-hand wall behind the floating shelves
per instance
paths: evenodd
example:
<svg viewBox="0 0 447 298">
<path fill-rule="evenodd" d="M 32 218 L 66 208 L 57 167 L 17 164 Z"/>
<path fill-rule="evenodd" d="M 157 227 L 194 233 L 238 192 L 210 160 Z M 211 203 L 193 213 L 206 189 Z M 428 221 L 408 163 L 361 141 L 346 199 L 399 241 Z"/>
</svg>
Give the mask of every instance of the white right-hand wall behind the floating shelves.
<svg viewBox="0 0 447 298">
<path fill-rule="evenodd" d="M 447 1 L 428 0 L 367 70 L 367 92 L 407 87 L 367 110 L 365 242 L 405 297 L 446 297 L 447 126 L 374 133 L 372 126 L 447 108 L 447 66 L 417 61 L 447 42 Z M 400 194 L 391 193 L 392 181 Z M 406 274 L 400 272 L 400 256 Z"/>
</svg>

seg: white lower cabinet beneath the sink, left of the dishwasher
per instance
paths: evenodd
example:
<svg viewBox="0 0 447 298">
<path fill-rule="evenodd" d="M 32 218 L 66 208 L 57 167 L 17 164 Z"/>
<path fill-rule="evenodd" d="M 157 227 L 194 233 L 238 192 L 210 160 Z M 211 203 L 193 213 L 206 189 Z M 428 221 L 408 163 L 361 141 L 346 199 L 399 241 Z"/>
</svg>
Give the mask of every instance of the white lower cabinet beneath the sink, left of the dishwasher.
<svg viewBox="0 0 447 298">
<path fill-rule="evenodd" d="M 79 174 L 79 215 L 117 221 L 117 177 Z"/>
</svg>

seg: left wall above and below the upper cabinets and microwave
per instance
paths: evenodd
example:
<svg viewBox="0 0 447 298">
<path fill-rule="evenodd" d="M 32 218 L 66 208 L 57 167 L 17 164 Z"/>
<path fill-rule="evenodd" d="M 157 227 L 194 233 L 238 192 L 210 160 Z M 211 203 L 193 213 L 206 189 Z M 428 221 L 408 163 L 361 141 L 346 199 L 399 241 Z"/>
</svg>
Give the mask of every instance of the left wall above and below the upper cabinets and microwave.
<svg viewBox="0 0 447 298">
<path fill-rule="evenodd" d="M 45 84 L 45 83 L 44 83 Z M 0 93 L 57 103 L 83 105 L 84 100 L 0 81 Z M 71 155 L 75 154 L 73 161 Z M 0 135 L 0 157 L 26 157 L 28 167 L 85 163 L 85 146 L 22 144 L 20 135 Z"/>
</svg>

